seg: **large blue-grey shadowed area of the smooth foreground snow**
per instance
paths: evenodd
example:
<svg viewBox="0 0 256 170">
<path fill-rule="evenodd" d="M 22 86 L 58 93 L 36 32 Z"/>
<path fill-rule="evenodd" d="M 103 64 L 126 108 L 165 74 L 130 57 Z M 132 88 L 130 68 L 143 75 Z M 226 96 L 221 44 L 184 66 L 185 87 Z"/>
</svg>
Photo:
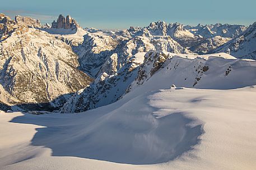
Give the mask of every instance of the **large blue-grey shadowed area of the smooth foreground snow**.
<svg viewBox="0 0 256 170">
<path fill-rule="evenodd" d="M 182 113 L 157 118 L 152 94 L 134 96 L 86 114 L 50 114 L 40 120 L 22 116 L 12 122 L 42 125 L 32 145 L 52 149 L 53 156 L 75 156 L 128 164 L 173 160 L 199 142 L 201 125 Z M 50 118 L 50 119 L 49 119 Z M 35 120 L 35 122 L 34 122 Z M 194 124 L 187 127 L 187 124 Z M 64 126 L 63 126 L 64 125 Z M 62 128 L 59 128 L 62 127 Z M 58 134 L 58 135 L 57 135 Z"/>
</svg>

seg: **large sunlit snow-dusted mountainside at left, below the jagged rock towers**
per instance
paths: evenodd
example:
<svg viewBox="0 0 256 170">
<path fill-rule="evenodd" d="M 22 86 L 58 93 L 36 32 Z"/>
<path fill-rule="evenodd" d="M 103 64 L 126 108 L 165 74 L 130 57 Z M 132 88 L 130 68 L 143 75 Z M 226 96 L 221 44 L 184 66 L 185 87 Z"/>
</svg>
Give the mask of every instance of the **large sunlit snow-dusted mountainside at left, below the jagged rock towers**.
<svg viewBox="0 0 256 170">
<path fill-rule="evenodd" d="M 47 100 L 52 101 L 49 105 L 53 107 L 60 106 L 72 96 L 70 93 L 92 81 L 89 76 L 91 81 L 87 84 L 83 81 L 86 75 L 76 69 L 79 63 L 71 46 L 38 28 L 27 28 L 22 35 L 12 33 L 0 43 L 0 48 L 0 100 L 12 106 L 8 109 L 20 111 L 23 108 L 17 104 L 47 103 Z M 10 72 L 15 74 L 10 76 Z"/>
</svg>

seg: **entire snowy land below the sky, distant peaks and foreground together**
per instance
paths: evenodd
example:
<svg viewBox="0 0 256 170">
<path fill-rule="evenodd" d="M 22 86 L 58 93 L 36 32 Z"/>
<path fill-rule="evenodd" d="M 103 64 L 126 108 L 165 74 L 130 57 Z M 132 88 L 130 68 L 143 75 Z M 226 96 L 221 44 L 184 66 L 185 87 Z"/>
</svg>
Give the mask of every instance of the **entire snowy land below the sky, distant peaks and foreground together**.
<svg viewBox="0 0 256 170">
<path fill-rule="evenodd" d="M 254 169 L 255 60 L 256 22 L 105 31 L 1 13 L 1 140 L 34 128 L 0 166 Z"/>
</svg>

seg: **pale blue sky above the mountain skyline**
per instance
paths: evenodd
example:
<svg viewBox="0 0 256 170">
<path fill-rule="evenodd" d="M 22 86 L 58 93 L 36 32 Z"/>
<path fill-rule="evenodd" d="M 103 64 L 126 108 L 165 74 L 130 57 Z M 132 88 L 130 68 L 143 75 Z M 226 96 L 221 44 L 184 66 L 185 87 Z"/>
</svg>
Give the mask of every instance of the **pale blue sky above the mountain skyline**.
<svg viewBox="0 0 256 170">
<path fill-rule="evenodd" d="M 58 15 L 71 15 L 82 27 L 123 29 L 147 26 L 153 21 L 198 23 L 237 23 L 256 21 L 256 0 L 8 0 L 0 2 L 0 12 L 38 18 L 51 23 Z"/>
</svg>

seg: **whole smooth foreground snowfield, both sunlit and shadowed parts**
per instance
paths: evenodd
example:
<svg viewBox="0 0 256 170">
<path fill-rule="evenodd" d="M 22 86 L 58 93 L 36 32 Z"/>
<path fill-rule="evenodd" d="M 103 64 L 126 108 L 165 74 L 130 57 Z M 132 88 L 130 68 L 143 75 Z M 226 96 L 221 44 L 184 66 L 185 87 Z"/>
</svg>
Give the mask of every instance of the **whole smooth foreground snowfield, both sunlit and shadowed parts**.
<svg viewBox="0 0 256 170">
<path fill-rule="evenodd" d="M 255 88 L 134 90 L 80 114 L 2 113 L 1 169 L 253 169 Z"/>
</svg>

